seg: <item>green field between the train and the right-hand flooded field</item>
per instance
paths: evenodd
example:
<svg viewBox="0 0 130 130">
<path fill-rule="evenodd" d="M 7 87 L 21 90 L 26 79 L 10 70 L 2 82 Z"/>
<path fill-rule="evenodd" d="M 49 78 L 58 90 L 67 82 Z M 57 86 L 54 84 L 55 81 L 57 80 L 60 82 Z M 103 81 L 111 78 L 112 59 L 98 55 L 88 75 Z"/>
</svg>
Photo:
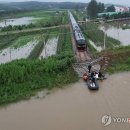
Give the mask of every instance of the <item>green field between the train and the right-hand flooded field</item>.
<svg viewBox="0 0 130 130">
<path fill-rule="evenodd" d="M 82 25 L 81 29 L 88 39 L 91 39 L 97 46 L 103 46 L 104 43 L 104 32 L 98 29 L 98 25 L 95 23 L 87 23 Z M 106 47 L 113 48 L 114 46 L 120 45 L 120 41 L 106 36 Z"/>
</svg>

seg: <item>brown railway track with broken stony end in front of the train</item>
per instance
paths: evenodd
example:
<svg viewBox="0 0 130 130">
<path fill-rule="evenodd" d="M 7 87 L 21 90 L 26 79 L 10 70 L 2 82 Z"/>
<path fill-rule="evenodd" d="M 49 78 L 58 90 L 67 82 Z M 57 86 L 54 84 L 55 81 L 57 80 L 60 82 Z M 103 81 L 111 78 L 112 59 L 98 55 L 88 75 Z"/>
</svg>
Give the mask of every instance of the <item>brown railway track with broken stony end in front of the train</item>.
<svg viewBox="0 0 130 130">
<path fill-rule="evenodd" d="M 77 26 L 76 26 L 77 27 Z M 77 43 L 76 43 L 76 36 L 74 35 L 71 23 L 70 23 L 70 30 L 71 30 L 71 43 L 72 43 L 72 48 L 73 48 L 73 52 L 75 55 L 75 58 L 77 60 L 77 63 L 75 63 L 73 65 L 74 70 L 77 72 L 77 74 L 79 75 L 79 77 L 82 77 L 84 73 L 88 73 L 88 65 L 90 63 L 92 63 L 92 69 L 95 71 L 99 71 L 100 70 L 100 65 L 99 64 L 94 64 L 93 60 L 90 57 L 89 54 L 89 49 L 86 48 L 86 50 L 81 51 L 77 49 Z"/>
</svg>

